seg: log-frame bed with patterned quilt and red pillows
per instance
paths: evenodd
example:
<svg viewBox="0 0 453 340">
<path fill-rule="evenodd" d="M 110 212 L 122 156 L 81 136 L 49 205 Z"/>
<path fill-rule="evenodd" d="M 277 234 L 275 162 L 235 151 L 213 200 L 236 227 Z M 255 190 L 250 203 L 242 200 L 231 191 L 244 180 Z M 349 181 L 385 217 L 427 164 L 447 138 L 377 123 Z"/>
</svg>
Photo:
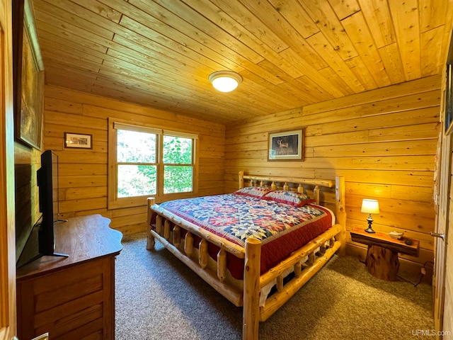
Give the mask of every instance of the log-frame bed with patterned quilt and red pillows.
<svg viewBox="0 0 453 340">
<path fill-rule="evenodd" d="M 148 198 L 147 249 L 157 239 L 234 305 L 243 339 L 336 252 L 345 249 L 345 180 L 251 176 L 239 190 L 156 204 Z M 330 207 L 330 208 L 329 208 Z"/>
</svg>

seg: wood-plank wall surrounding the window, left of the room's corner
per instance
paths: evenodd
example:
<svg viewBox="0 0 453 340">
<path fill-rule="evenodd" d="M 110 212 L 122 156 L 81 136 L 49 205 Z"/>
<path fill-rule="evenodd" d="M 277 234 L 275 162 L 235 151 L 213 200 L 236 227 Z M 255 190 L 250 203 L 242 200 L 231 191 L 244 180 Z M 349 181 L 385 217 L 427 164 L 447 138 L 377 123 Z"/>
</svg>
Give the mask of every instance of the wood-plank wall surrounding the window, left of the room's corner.
<svg viewBox="0 0 453 340">
<path fill-rule="evenodd" d="M 135 208 L 108 210 L 108 118 L 148 123 L 199 135 L 198 195 L 224 191 L 224 125 L 45 86 L 44 149 L 59 156 L 59 212 L 62 218 L 100 213 L 123 234 L 145 230 L 146 201 Z M 93 135 L 93 149 L 65 149 L 64 132 Z"/>
</svg>

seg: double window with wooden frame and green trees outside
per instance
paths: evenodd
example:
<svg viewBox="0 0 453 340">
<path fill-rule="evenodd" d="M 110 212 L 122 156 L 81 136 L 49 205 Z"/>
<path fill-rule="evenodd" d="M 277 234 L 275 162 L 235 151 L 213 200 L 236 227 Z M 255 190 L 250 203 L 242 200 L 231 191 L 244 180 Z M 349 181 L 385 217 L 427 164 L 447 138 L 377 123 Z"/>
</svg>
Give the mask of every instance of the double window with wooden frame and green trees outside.
<svg viewBox="0 0 453 340">
<path fill-rule="evenodd" d="M 196 135 L 109 123 L 108 207 L 188 197 L 196 188 Z"/>
</svg>

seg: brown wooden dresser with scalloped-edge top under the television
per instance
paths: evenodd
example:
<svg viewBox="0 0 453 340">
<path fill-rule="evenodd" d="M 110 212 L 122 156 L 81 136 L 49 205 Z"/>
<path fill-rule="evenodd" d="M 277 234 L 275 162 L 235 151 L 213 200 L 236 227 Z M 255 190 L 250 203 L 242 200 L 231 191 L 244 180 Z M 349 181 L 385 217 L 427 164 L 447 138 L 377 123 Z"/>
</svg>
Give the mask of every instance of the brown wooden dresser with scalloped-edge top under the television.
<svg viewBox="0 0 453 340">
<path fill-rule="evenodd" d="M 17 271 L 18 338 L 115 339 L 115 256 L 122 233 L 101 215 L 55 225 L 55 252 Z"/>
</svg>

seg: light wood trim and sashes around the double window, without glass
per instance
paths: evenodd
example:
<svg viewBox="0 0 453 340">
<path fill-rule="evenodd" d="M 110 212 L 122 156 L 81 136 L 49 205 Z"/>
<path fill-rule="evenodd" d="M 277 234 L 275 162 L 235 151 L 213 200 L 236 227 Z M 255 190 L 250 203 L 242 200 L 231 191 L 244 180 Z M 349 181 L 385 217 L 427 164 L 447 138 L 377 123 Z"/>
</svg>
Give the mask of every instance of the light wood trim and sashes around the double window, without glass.
<svg viewBox="0 0 453 340">
<path fill-rule="evenodd" d="M 117 133 L 116 130 L 131 130 L 137 132 L 155 133 L 157 135 L 157 194 L 155 196 L 136 196 L 117 198 Z M 183 137 L 193 139 L 193 188 L 190 192 L 185 193 L 164 193 L 164 162 L 163 162 L 163 142 L 164 135 L 173 137 Z M 166 130 L 159 125 L 150 125 L 147 123 L 131 123 L 127 120 L 117 118 L 108 118 L 108 209 L 137 207 L 147 204 L 148 197 L 154 197 L 156 203 L 178 198 L 189 198 L 196 196 L 198 193 L 198 135 L 190 132 L 179 132 L 176 130 Z M 166 164 L 168 165 L 168 164 Z"/>
</svg>

